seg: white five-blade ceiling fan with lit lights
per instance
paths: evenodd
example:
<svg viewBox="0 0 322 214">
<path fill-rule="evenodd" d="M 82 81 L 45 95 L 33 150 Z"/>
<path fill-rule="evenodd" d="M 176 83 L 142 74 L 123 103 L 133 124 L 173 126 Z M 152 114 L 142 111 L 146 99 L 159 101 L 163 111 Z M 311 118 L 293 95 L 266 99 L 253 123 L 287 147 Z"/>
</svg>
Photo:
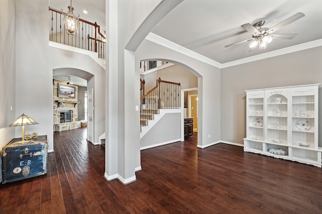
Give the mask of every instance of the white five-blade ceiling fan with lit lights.
<svg viewBox="0 0 322 214">
<path fill-rule="evenodd" d="M 244 43 L 244 42 L 248 42 L 248 41 L 252 41 L 249 44 L 249 47 L 251 48 L 249 50 L 249 52 L 254 51 L 255 48 L 259 45 L 259 49 L 265 49 L 267 47 L 267 45 L 272 42 L 273 39 L 279 39 L 279 40 L 291 40 L 293 39 L 297 34 L 273 34 L 276 31 L 280 30 L 281 28 L 303 18 L 305 15 L 303 13 L 297 13 L 293 16 L 291 16 L 290 18 L 284 20 L 283 22 L 277 24 L 276 26 L 274 26 L 273 28 L 264 28 L 263 25 L 265 24 L 265 21 L 260 21 L 255 23 L 254 26 L 258 27 L 255 28 L 253 25 L 251 24 L 244 24 L 241 27 L 244 28 L 246 31 L 250 32 L 253 37 L 247 40 L 243 40 L 243 41 L 239 41 L 236 43 L 232 43 L 230 45 L 226 45 L 225 48 L 233 46 L 233 45 L 237 45 L 240 43 Z"/>
</svg>

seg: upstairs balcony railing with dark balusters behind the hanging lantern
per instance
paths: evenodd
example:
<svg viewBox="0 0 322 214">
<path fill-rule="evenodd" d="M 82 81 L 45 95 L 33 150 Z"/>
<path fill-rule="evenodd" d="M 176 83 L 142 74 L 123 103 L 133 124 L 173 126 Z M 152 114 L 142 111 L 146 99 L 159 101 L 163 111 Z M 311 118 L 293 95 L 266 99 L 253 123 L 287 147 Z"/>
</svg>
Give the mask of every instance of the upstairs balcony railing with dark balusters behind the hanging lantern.
<svg viewBox="0 0 322 214">
<path fill-rule="evenodd" d="M 100 32 L 100 26 L 86 20 L 79 19 L 78 33 L 69 35 L 65 30 L 61 11 L 49 7 L 49 41 L 69 45 L 98 53 L 98 57 L 105 59 L 106 38 Z"/>
</svg>

